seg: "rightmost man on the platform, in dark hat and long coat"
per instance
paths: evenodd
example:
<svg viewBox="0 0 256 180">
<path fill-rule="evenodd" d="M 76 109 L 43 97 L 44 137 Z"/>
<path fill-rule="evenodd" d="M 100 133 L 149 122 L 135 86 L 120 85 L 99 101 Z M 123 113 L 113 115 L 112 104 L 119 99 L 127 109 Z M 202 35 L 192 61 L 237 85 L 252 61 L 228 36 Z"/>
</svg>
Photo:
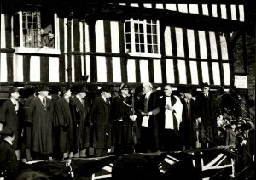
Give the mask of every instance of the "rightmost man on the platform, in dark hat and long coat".
<svg viewBox="0 0 256 180">
<path fill-rule="evenodd" d="M 208 83 L 203 83 L 200 93 L 195 99 L 195 117 L 198 122 L 199 143 L 201 148 L 215 147 L 218 141 L 217 117 L 218 106 L 209 92 Z"/>
</svg>

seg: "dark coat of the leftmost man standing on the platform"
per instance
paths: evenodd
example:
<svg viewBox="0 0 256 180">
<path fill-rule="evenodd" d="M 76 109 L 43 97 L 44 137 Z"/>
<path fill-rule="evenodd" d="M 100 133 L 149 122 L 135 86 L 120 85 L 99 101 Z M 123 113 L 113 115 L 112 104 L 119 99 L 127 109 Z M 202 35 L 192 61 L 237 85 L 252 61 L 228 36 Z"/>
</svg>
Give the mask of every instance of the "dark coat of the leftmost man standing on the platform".
<svg viewBox="0 0 256 180">
<path fill-rule="evenodd" d="M 6 100 L 0 107 L 0 122 L 3 128 L 7 127 L 15 132 L 13 147 L 15 150 L 21 148 L 21 124 L 22 124 L 22 104 L 19 103 L 19 110 L 15 111 L 15 105 L 10 99 Z"/>
</svg>

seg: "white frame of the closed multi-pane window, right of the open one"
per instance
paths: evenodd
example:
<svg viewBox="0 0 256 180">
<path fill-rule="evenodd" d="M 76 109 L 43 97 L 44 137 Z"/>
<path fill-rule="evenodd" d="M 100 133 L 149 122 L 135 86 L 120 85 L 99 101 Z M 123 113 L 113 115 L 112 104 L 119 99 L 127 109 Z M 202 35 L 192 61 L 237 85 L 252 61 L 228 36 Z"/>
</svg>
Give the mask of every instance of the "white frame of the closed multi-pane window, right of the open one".
<svg viewBox="0 0 256 180">
<path fill-rule="evenodd" d="M 151 24 L 150 27 L 152 28 L 152 20 L 150 20 Z M 126 30 L 125 23 L 130 23 L 130 30 Z M 130 18 L 130 20 L 125 20 L 124 23 L 124 37 L 125 37 L 125 53 L 128 53 L 130 56 L 142 56 L 142 57 L 152 57 L 152 58 L 161 58 L 160 53 L 160 21 L 155 20 L 156 25 L 156 40 L 157 40 L 157 53 L 148 53 L 148 45 L 153 45 L 154 41 L 152 41 L 150 44 L 148 44 L 148 32 L 147 32 L 147 20 L 143 19 L 137 19 L 134 20 L 133 18 Z M 135 32 L 135 25 L 143 24 L 143 46 L 144 46 L 144 52 L 136 52 L 136 32 Z M 126 42 L 126 34 L 131 33 L 131 52 L 127 51 L 127 42 Z M 153 32 L 150 33 L 150 37 L 152 38 Z"/>
</svg>

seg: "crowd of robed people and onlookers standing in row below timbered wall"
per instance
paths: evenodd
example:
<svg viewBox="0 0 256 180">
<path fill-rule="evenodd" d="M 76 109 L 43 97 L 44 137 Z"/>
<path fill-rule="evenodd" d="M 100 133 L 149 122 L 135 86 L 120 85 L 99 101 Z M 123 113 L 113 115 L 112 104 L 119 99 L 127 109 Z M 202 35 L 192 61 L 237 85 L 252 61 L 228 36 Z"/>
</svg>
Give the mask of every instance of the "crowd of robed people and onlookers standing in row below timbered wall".
<svg viewBox="0 0 256 180">
<path fill-rule="evenodd" d="M 20 89 L 12 87 L 9 99 L 0 107 L 0 133 L 3 138 L 13 138 L 7 141 L 17 160 L 86 157 L 90 147 L 96 157 L 190 150 L 198 148 L 198 142 L 201 148 L 233 145 L 238 151 L 246 144 L 243 151 L 254 158 L 254 144 L 250 144 L 254 140 L 248 139 L 253 138 L 254 121 L 249 133 L 245 133 L 249 129 L 245 122 L 236 127 L 238 121 L 226 121 L 225 128 L 219 127 L 218 121 L 224 117 L 207 83 L 195 100 L 190 88 L 178 97 L 171 85 L 163 92 L 154 91 L 150 82 L 143 83 L 141 92 L 122 84 L 115 98 L 112 86 L 102 86 L 92 103 L 86 100 L 84 86 L 61 86 L 55 99 L 49 98 L 46 86 L 26 86 L 25 90 L 24 103 L 19 101 Z"/>
</svg>

